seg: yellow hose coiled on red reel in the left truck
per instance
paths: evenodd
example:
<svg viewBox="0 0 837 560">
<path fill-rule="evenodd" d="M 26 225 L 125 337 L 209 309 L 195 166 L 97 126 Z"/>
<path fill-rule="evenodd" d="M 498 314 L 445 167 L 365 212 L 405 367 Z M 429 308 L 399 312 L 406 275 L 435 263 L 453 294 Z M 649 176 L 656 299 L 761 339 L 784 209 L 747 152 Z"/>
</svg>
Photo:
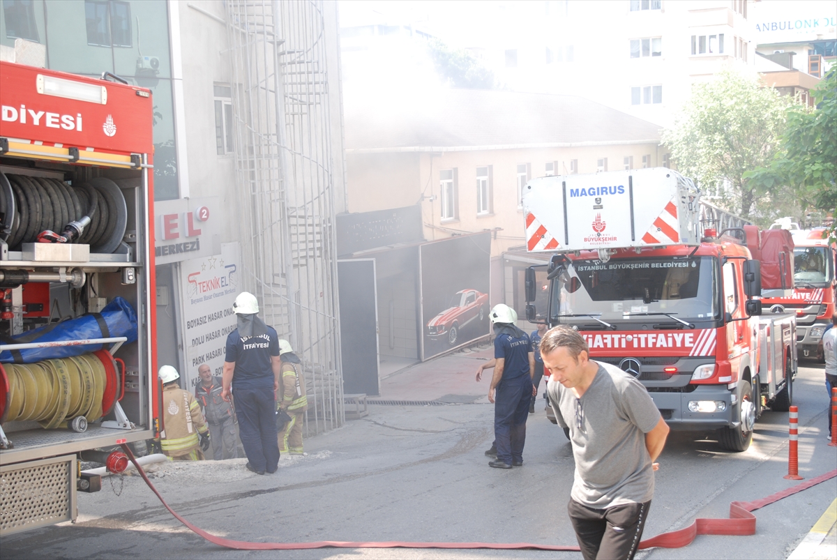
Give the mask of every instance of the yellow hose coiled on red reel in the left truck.
<svg viewBox="0 0 837 560">
<path fill-rule="evenodd" d="M 0 394 L 3 423 L 35 420 L 45 429 L 83 432 L 121 398 L 116 395 L 116 359 L 104 350 L 30 364 L 0 364 L 0 377 L 4 389 L 0 393 L 6 393 Z"/>
</svg>

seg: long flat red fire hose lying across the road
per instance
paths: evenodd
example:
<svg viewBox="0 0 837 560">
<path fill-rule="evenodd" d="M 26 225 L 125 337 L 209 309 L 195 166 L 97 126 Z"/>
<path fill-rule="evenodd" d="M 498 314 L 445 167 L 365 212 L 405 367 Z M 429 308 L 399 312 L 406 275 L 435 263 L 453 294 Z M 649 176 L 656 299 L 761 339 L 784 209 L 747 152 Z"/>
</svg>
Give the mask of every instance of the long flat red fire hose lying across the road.
<svg viewBox="0 0 837 560">
<path fill-rule="evenodd" d="M 186 521 L 182 516 L 179 516 L 176 511 L 172 510 L 165 500 L 160 496 L 157 488 L 148 480 L 146 472 L 142 470 L 141 465 L 136 462 L 131 448 L 126 444 L 122 444 L 122 450 L 131 459 L 131 462 L 136 466 L 137 472 L 142 476 L 142 480 L 151 491 L 157 495 L 163 506 L 177 518 L 183 525 L 188 527 L 192 532 L 197 533 L 209 542 L 218 545 L 219 547 L 233 548 L 235 550 L 302 550 L 308 548 L 493 548 L 500 550 L 512 550 L 521 548 L 531 548 L 535 550 L 551 550 L 551 551 L 565 551 L 578 552 L 578 547 L 563 547 L 557 545 L 533 544 L 530 542 L 352 542 L 352 541 L 316 541 L 316 542 L 246 542 L 233 541 L 227 538 L 215 537 L 213 534 L 203 531 L 195 527 L 189 521 Z M 752 511 L 756 511 L 764 506 L 768 506 L 775 501 L 779 501 L 788 496 L 793 496 L 797 492 L 807 490 L 811 486 L 816 486 L 825 480 L 830 480 L 837 477 L 837 469 L 832 470 L 824 475 L 819 475 L 811 480 L 791 486 L 787 490 L 776 492 L 771 496 L 762 498 L 757 501 L 733 501 L 730 504 L 730 516 L 728 519 L 696 519 L 689 527 L 672 531 L 645 539 L 639 543 L 639 548 L 680 548 L 685 547 L 695 540 L 698 535 L 755 535 L 756 534 L 756 516 L 752 515 Z"/>
</svg>

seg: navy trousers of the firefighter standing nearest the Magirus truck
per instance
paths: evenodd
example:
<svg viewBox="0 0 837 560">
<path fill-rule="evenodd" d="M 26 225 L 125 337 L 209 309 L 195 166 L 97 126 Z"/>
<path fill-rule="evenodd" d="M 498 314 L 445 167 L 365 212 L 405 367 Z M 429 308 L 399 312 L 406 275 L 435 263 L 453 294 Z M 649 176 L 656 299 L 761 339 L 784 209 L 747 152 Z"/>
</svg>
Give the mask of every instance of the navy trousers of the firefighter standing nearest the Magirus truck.
<svg viewBox="0 0 837 560">
<path fill-rule="evenodd" d="M 511 465 L 523 460 L 526 444 L 526 419 L 529 418 L 531 378 L 526 372 L 520 378 L 503 379 L 494 398 L 494 439 L 497 460 Z"/>
</svg>

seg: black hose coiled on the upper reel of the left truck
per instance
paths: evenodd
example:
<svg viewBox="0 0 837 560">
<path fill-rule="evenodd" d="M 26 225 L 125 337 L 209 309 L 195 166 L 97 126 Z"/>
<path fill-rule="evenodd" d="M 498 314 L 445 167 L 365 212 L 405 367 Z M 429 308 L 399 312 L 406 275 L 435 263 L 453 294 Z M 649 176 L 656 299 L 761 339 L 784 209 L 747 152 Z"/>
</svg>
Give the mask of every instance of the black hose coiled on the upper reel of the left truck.
<svg viewBox="0 0 837 560">
<path fill-rule="evenodd" d="M 0 239 L 13 250 L 42 233 L 70 229 L 72 242 L 89 244 L 93 253 L 113 253 L 125 235 L 127 207 L 120 188 L 105 177 L 73 187 L 0 172 L 0 219 Z"/>
</svg>

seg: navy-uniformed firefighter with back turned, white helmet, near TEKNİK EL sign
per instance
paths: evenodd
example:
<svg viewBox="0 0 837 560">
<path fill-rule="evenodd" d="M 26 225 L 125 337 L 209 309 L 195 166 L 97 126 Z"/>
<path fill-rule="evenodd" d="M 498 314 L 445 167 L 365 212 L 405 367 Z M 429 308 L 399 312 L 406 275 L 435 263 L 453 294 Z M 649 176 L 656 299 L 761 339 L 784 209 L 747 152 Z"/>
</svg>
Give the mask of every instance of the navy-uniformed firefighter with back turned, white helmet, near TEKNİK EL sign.
<svg viewBox="0 0 837 560">
<path fill-rule="evenodd" d="M 248 470 L 257 475 L 279 468 L 276 444 L 276 392 L 280 385 L 279 336 L 259 319 L 259 301 L 243 291 L 233 304 L 238 328 L 227 337 L 221 398 L 235 393 L 239 438 Z"/>
</svg>

